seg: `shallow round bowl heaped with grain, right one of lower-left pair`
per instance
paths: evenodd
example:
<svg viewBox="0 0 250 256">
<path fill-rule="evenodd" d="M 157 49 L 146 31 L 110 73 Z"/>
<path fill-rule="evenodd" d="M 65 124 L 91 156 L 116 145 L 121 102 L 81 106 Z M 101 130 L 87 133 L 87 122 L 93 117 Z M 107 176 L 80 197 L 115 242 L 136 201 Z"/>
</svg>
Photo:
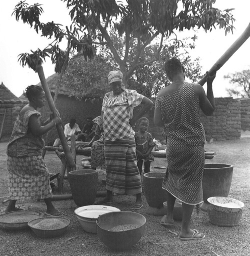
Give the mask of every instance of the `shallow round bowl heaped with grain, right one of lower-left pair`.
<svg viewBox="0 0 250 256">
<path fill-rule="evenodd" d="M 55 237 L 63 234 L 70 220 L 65 217 L 45 217 L 33 219 L 28 222 L 28 226 L 39 237 Z"/>
</svg>

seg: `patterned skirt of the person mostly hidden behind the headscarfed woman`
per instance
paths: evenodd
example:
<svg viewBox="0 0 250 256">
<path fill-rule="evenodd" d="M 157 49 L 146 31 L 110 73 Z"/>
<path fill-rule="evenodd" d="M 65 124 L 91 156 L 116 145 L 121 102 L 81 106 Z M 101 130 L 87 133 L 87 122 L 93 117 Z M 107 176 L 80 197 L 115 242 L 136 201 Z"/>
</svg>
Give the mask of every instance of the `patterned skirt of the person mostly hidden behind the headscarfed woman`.
<svg viewBox="0 0 250 256">
<path fill-rule="evenodd" d="M 101 170 L 106 169 L 104 156 L 104 141 L 96 140 L 91 146 L 91 166 L 100 167 Z"/>
</svg>

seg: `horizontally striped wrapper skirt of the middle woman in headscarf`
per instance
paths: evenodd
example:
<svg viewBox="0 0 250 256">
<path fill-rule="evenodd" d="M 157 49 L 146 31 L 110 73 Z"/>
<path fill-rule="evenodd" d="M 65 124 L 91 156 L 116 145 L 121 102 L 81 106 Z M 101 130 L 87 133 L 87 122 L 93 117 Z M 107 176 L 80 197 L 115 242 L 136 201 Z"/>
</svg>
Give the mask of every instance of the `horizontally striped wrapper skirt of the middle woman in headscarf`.
<svg viewBox="0 0 250 256">
<path fill-rule="evenodd" d="M 106 189 L 118 194 L 141 193 L 134 137 L 105 140 Z"/>
</svg>

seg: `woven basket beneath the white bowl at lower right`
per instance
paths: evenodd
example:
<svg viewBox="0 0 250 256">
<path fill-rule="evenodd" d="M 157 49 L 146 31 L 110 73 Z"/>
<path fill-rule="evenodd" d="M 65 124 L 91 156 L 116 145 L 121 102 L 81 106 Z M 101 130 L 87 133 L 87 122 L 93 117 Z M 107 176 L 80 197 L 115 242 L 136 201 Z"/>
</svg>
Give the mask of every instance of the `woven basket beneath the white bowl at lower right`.
<svg viewBox="0 0 250 256">
<path fill-rule="evenodd" d="M 242 215 L 242 209 L 239 209 L 237 212 L 220 212 L 208 206 L 207 214 L 213 225 L 237 226 Z"/>
</svg>

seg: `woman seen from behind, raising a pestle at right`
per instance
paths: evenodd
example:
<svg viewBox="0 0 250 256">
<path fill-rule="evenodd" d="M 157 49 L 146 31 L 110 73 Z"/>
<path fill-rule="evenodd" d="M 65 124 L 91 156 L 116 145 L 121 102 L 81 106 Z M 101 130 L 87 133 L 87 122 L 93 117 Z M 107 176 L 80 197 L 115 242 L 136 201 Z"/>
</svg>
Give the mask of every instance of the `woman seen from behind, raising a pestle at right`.
<svg viewBox="0 0 250 256">
<path fill-rule="evenodd" d="M 190 228 L 194 205 L 202 202 L 205 134 L 199 108 L 205 115 L 215 109 L 212 81 L 206 73 L 207 93 L 199 84 L 184 81 L 184 68 L 176 58 L 165 62 L 165 72 L 172 83 L 157 95 L 154 124 L 163 126 L 166 135 L 167 169 L 162 188 L 167 191 L 167 215 L 162 225 L 173 224 L 175 198 L 182 202 L 181 240 L 202 239 L 204 234 Z"/>
</svg>

